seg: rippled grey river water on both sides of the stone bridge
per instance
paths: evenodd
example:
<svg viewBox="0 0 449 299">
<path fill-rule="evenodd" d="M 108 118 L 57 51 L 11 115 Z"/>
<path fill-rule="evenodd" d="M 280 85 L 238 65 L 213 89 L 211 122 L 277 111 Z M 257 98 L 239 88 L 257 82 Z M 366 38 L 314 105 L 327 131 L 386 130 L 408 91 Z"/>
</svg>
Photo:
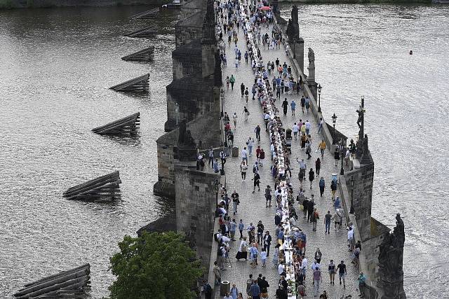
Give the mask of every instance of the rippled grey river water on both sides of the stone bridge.
<svg viewBox="0 0 449 299">
<path fill-rule="evenodd" d="M 0 298 L 81 263 L 92 265 L 93 298 L 107 295 L 116 243 L 173 209 L 152 195 L 152 186 L 175 15 L 128 18 L 146 9 L 0 11 Z M 161 28 L 154 39 L 121 36 L 149 22 Z M 396 212 L 404 217 L 410 298 L 449 291 L 434 287 L 449 270 L 441 254 L 449 235 L 443 200 L 449 188 L 448 27 L 444 6 L 300 6 L 300 32 L 315 51 L 326 119 L 335 112 L 337 129 L 354 136 L 354 110 L 365 95 L 375 160 L 373 216 L 390 226 Z M 154 63 L 120 60 L 149 45 L 156 47 Z M 148 96 L 108 89 L 148 72 Z M 139 139 L 90 132 L 136 111 Z M 62 198 L 70 186 L 116 169 L 123 181 L 117 204 Z"/>
</svg>

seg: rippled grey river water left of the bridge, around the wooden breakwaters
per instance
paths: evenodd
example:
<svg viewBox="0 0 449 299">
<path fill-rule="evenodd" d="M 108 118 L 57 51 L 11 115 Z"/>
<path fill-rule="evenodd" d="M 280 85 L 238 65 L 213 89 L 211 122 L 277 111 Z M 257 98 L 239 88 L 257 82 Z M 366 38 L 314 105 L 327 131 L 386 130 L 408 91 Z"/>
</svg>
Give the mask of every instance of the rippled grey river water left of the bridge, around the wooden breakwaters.
<svg viewBox="0 0 449 299">
<path fill-rule="evenodd" d="M 30 279 L 91 263 L 93 298 L 107 295 L 109 256 L 170 204 L 152 194 L 166 120 L 175 15 L 132 20 L 148 7 L 0 11 L 0 298 Z M 151 40 L 122 37 L 155 22 Z M 121 57 L 154 45 L 152 64 Z M 150 73 L 150 94 L 109 90 Z M 139 139 L 91 133 L 140 111 Z M 73 202 L 62 192 L 118 169 L 122 200 Z M 172 203 L 173 205 L 173 203 Z"/>
</svg>

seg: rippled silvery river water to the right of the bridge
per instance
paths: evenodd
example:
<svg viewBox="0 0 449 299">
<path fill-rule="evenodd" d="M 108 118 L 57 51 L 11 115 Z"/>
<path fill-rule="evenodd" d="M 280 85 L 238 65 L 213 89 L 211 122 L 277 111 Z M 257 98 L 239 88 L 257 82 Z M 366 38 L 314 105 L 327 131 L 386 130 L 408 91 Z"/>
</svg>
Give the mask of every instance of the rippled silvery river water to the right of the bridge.
<svg viewBox="0 0 449 299">
<path fill-rule="evenodd" d="M 290 7 L 283 6 L 284 16 Z M 449 6 L 299 9 L 326 119 L 335 112 L 337 129 L 355 137 L 355 110 L 365 96 L 373 216 L 390 227 L 397 212 L 404 217 L 408 297 L 448 298 Z"/>
</svg>

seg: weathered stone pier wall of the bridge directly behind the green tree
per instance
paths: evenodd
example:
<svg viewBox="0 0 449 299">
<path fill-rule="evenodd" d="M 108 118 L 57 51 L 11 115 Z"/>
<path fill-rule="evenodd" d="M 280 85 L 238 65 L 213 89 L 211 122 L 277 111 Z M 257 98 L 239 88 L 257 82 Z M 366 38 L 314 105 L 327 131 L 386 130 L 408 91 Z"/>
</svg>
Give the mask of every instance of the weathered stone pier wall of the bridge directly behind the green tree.
<svg viewBox="0 0 449 299">
<path fill-rule="evenodd" d="M 176 229 L 180 233 L 194 231 L 196 252 L 206 271 L 220 179 L 220 174 L 175 167 Z"/>
</svg>

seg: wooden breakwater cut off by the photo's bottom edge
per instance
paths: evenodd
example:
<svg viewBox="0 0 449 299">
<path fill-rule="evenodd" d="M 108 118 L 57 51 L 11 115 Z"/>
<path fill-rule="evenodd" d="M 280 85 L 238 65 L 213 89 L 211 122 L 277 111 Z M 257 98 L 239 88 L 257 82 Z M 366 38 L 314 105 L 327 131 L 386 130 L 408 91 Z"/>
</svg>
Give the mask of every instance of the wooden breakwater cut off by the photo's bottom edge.
<svg viewBox="0 0 449 299">
<path fill-rule="evenodd" d="M 15 298 L 85 298 L 91 265 L 85 264 L 25 284 Z"/>
</svg>

